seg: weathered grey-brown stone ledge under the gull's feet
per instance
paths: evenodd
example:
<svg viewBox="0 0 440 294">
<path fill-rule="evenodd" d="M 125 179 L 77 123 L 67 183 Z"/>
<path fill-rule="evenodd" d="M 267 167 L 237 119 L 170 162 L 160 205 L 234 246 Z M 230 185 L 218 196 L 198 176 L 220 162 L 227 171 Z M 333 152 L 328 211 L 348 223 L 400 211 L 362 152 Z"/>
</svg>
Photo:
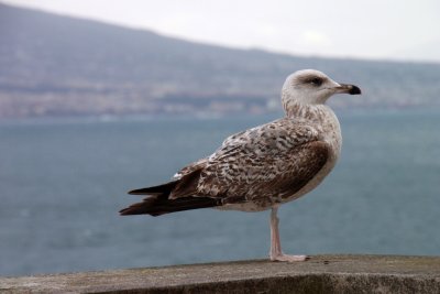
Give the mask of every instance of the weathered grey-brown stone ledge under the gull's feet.
<svg viewBox="0 0 440 294">
<path fill-rule="evenodd" d="M 312 255 L 0 277 L 0 293 L 440 293 L 440 258 Z"/>
</svg>

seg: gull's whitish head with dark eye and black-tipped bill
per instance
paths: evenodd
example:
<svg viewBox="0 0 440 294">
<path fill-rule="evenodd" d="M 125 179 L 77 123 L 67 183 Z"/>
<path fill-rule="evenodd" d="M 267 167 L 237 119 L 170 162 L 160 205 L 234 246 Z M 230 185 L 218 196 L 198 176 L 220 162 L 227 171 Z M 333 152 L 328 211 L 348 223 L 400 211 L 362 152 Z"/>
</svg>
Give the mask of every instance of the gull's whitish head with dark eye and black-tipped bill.
<svg viewBox="0 0 440 294">
<path fill-rule="evenodd" d="M 340 84 L 316 69 L 302 69 L 289 75 L 282 90 L 283 105 L 324 104 L 334 94 L 359 95 L 361 89 L 354 85 Z"/>
</svg>

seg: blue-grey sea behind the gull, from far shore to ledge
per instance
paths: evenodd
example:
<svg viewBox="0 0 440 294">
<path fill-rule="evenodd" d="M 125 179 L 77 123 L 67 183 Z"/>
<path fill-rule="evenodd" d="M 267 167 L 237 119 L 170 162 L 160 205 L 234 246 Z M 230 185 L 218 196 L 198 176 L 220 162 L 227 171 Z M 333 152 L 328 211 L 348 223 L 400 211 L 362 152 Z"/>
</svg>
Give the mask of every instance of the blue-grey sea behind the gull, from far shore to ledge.
<svg viewBox="0 0 440 294">
<path fill-rule="evenodd" d="M 279 210 L 286 253 L 440 255 L 440 110 L 340 110 L 342 157 Z M 121 217 L 222 140 L 276 116 L 0 122 L 0 275 L 262 259 L 268 211 Z"/>
</svg>

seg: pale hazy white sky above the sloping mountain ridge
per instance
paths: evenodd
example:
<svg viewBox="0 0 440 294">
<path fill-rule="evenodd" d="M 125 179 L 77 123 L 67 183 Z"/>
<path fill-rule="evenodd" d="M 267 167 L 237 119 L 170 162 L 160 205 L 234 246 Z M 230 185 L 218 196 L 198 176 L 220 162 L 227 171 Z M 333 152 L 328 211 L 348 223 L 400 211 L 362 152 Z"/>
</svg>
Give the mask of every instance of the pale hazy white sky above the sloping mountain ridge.
<svg viewBox="0 0 440 294">
<path fill-rule="evenodd" d="M 0 1 L 234 47 L 440 62 L 438 0 Z"/>
</svg>

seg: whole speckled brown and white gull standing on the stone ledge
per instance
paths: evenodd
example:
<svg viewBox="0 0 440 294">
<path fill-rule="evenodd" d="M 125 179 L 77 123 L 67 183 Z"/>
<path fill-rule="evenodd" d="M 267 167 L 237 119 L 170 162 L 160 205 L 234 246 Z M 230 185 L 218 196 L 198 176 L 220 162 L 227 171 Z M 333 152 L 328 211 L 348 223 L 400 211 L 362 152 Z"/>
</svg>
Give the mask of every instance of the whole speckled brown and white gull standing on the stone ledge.
<svg viewBox="0 0 440 294">
<path fill-rule="evenodd" d="M 282 88 L 283 118 L 232 134 L 215 153 L 185 166 L 168 183 L 129 192 L 147 197 L 120 214 L 271 209 L 270 259 L 305 261 L 307 255 L 283 253 L 277 211 L 282 204 L 317 187 L 337 163 L 341 129 L 326 105 L 334 94 L 360 95 L 361 89 L 316 69 L 295 72 Z"/>
</svg>

